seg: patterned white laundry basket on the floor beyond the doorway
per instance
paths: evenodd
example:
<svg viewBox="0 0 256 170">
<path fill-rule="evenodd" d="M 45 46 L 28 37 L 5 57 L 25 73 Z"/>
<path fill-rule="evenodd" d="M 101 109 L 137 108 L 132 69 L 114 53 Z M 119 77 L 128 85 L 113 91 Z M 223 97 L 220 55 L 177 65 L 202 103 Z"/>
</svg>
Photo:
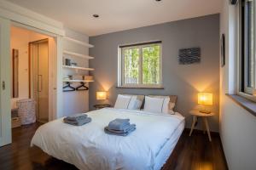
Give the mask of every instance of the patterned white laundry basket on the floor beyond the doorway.
<svg viewBox="0 0 256 170">
<path fill-rule="evenodd" d="M 36 102 L 34 99 L 20 99 L 17 101 L 17 106 L 22 125 L 36 122 Z"/>
</svg>

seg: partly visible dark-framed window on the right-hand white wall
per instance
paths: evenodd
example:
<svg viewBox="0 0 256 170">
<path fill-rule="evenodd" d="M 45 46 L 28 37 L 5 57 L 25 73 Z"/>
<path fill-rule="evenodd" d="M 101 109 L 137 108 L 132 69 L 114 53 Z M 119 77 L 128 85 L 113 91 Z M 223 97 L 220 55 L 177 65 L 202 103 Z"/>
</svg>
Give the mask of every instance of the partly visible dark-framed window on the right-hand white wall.
<svg viewBox="0 0 256 170">
<path fill-rule="evenodd" d="M 255 87 L 255 0 L 241 0 L 240 91 L 253 94 Z"/>
</svg>

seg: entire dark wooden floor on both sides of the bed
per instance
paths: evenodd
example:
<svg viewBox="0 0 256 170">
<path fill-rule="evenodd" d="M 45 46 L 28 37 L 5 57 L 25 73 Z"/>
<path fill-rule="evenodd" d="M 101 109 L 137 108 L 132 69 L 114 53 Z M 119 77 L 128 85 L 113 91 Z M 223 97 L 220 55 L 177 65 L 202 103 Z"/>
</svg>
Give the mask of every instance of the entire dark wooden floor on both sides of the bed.
<svg viewBox="0 0 256 170">
<path fill-rule="evenodd" d="M 39 123 L 35 123 L 13 129 L 13 144 L 0 147 L 1 170 L 77 169 L 71 164 L 48 156 L 37 147 L 30 147 L 32 135 L 39 126 Z M 167 169 L 227 169 L 218 134 L 213 134 L 212 142 L 209 142 L 207 134 L 195 131 L 189 137 L 189 131 L 185 129 L 172 152 L 172 156 L 163 167 L 163 170 Z"/>
</svg>

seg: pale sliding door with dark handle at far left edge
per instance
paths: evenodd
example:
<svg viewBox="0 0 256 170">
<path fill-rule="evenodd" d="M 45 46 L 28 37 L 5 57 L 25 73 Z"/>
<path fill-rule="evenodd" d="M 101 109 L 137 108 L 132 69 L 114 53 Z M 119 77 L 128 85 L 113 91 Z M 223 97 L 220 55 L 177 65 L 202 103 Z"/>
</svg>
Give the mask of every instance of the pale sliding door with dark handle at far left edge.
<svg viewBox="0 0 256 170">
<path fill-rule="evenodd" d="M 11 143 L 10 20 L 0 17 L 0 146 Z"/>
</svg>

